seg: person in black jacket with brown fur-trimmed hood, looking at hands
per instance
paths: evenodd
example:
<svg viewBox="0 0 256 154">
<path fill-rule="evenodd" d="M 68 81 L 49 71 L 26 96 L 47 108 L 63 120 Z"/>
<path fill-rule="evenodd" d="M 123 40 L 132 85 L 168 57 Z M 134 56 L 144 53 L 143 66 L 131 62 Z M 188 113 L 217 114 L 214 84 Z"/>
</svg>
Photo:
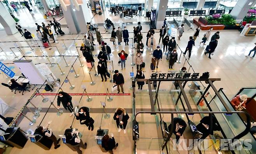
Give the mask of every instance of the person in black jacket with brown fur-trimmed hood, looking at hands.
<svg viewBox="0 0 256 154">
<path fill-rule="evenodd" d="M 116 112 L 113 116 L 113 119 L 116 120 L 116 125 L 118 129 L 118 132 L 121 132 L 122 129 L 124 129 L 124 133 L 126 133 L 126 125 L 128 123 L 129 115 L 126 113 L 124 108 L 117 108 Z"/>
</svg>

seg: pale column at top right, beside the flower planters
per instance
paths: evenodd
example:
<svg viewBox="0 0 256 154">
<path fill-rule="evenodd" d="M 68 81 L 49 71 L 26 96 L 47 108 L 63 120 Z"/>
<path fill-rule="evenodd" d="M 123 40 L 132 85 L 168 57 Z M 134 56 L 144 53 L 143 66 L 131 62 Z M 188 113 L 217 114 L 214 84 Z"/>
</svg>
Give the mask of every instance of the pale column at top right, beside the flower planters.
<svg viewBox="0 0 256 154">
<path fill-rule="evenodd" d="M 254 6 L 256 0 L 238 0 L 235 7 L 230 12 L 233 18 L 237 20 L 237 22 L 241 22 L 248 10 Z"/>
</svg>

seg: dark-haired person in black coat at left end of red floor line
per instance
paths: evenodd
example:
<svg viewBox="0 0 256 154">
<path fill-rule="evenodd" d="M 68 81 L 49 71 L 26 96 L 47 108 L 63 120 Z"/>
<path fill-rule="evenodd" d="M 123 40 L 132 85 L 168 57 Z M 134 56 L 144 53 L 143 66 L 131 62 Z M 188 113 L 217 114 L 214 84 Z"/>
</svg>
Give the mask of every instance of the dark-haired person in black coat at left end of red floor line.
<svg viewBox="0 0 256 154">
<path fill-rule="evenodd" d="M 57 106 L 58 106 L 57 108 L 58 109 L 60 108 L 60 102 L 62 103 L 63 107 L 66 110 L 70 111 L 69 116 L 72 116 L 73 115 L 72 97 L 68 93 L 60 91 L 59 96 L 57 98 Z"/>
</svg>

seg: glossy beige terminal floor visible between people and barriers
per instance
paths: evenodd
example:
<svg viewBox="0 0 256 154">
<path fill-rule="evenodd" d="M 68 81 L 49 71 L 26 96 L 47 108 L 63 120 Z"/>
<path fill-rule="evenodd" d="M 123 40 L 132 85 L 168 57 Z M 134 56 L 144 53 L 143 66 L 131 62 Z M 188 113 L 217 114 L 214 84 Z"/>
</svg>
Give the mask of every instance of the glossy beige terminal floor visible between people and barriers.
<svg viewBox="0 0 256 154">
<path fill-rule="evenodd" d="M 19 14 L 16 15 L 20 22 L 19 24 L 23 27 L 28 29 L 31 33 L 35 34 L 35 22 L 41 23 L 45 22 L 48 23 L 43 19 L 43 16 L 39 10 L 34 11 L 34 15 L 32 16 L 29 14 L 27 9 L 20 9 Z M 26 18 L 25 18 L 26 17 Z M 102 23 L 105 21 L 106 18 L 109 18 L 111 21 L 115 23 L 115 26 L 118 27 L 119 22 L 122 20 L 123 22 L 129 22 L 130 24 L 127 24 L 127 29 L 129 32 L 133 31 L 133 26 L 137 25 L 137 22 L 142 22 L 142 32 L 147 32 L 149 30 L 149 25 L 147 21 L 144 19 L 144 17 L 135 17 L 133 19 L 130 19 L 130 17 L 125 17 L 120 19 L 119 16 L 113 16 L 109 14 L 108 12 L 104 12 L 103 15 L 95 15 L 93 17 L 93 21 L 95 23 L 99 24 L 99 29 L 102 32 L 103 38 L 105 42 L 107 42 L 111 49 L 112 49 L 112 56 L 111 59 L 113 60 L 113 66 L 114 69 L 118 69 L 123 75 L 124 75 L 124 92 L 130 94 L 131 96 L 112 96 L 113 101 L 108 102 L 105 100 L 105 96 L 91 96 L 93 98 L 93 101 L 87 102 L 86 96 L 83 96 L 81 99 L 81 96 L 72 96 L 72 101 L 74 106 L 88 106 L 91 108 L 91 117 L 95 120 L 95 128 L 93 131 L 87 130 L 87 127 L 84 127 L 79 124 L 79 121 L 74 121 L 73 128 L 78 128 L 78 130 L 82 133 L 82 140 L 84 142 L 88 143 L 87 149 L 82 150 L 83 153 L 91 153 L 91 154 L 98 154 L 102 153 L 99 146 L 96 144 L 96 140 L 94 138 L 94 135 L 96 135 L 96 131 L 98 127 L 104 129 L 109 129 L 109 133 L 113 133 L 114 137 L 116 139 L 116 142 L 119 143 L 119 147 L 114 151 L 114 153 L 124 153 L 124 154 L 132 154 L 133 152 L 133 140 L 132 140 L 132 91 L 130 90 L 131 86 L 131 80 L 130 80 L 130 72 L 136 72 L 136 67 L 133 67 L 130 65 L 132 63 L 132 39 L 129 40 L 129 46 L 125 46 L 124 43 L 121 43 L 121 46 L 118 46 L 117 49 L 115 49 L 112 45 L 112 42 L 109 41 L 110 34 L 103 34 L 103 26 Z M 60 23 L 63 25 L 63 31 L 66 34 L 69 34 L 67 23 L 64 18 L 58 18 L 60 19 Z M 180 19 L 180 18 L 178 18 Z M 49 19 L 47 19 L 49 20 Z M 172 18 L 168 19 L 169 21 L 172 21 Z M 86 26 L 86 25 L 84 25 Z M 173 25 L 174 26 L 174 25 Z M 189 36 L 192 36 L 194 31 L 189 30 L 188 26 L 185 26 L 185 32 L 183 36 L 181 37 L 181 40 L 176 40 L 177 44 L 179 44 L 182 51 L 185 50 L 188 38 Z M 156 30 L 156 32 L 159 30 Z M 212 31 L 211 35 L 214 34 L 216 31 Z M 191 59 L 189 60 L 190 65 L 193 67 L 195 72 L 199 72 L 202 74 L 203 72 L 210 72 L 210 78 L 221 78 L 221 81 L 214 82 L 214 85 L 217 89 L 224 88 L 223 91 L 225 94 L 232 98 L 233 95 L 241 88 L 241 87 L 247 87 L 247 86 L 256 86 L 256 60 L 255 58 L 247 58 L 245 55 L 249 53 L 249 51 L 254 48 L 254 43 L 256 42 L 255 37 L 247 36 L 247 37 L 241 37 L 239 36 L 239 32 L 236 30 L 222 30 L 220 31 L 220 39 L 218 42 L 218 46 L 216 48 L 216 51 L 214 55 L 212 56 L 212 59 L 209 59 L 207 56 L 203 54 L 203 51 L 206 46 L 200 46 L 200 40 L 203 36 L 205 31 L 200 31 L 199 37 L 195 41 L 195 46 L 192 50 Z M 156 42 L 158 42 L 159 39 L 159 33 L 155 34 Z M 130 38 L 132 38 L 132 33 L 130 33 Z M 58 68 L 58 65 L 54 65 L 54 67 L 50 67 L 50 64 L 48 64 L 49 68 L 53 72 L 53 74 L 60 78 L 62 85 L 62 89 L 65 92 L 68 93 L 82 93 L 83 90 L 81 89 L 81 85 L 85 85 L 87 88 L 88 93 L 106 93 L 107 88 L 111 89 L 112 83 L 109 82 L 101 82 L 100 77 L 96 77 L 94 69 L 91 70 L 90 74 L 92 77 L 92 80 L 96 83 L 94 86 L 90 85 L 91 78 L 89 76 L 89 69 L 86 67 L 86 61 L 84 57 L 81 57 L 81 63 L 84 64 L 84 67 L 80 67 L 81 63 L 79 62 L 79 59 L 77 57 L 78 54 L 82 55 L 81 51 L 79 51 L 79 48 L 82 43 L 82 35 L 63 35 L 63 36 L 57 36 L 58 39 L 78 39 L 75 42 L 73 40 L 70 41 L 64 41 L 65 44 L 63 44 L 63 41 L 60 41 L 60 43 L 52 43 L 50 40 L 50 45 L 54 46 L 52 50 L 49 50 L 49 48 L 43 48 L 43 47 L 32 47 L 33 50 L 31 51 L 30 48 L 28 48 L 28 44 L 26 42 L 21 42 L 17 44 L 21 47 L 21 53 L 17 48 L 13 49 L 15 55 L 18 56 L 18 58 L 15 58 L 15 55 L 12 53 L 12 51 L 9 49 L 11 47 L 15 47 L 14 43 L 0 43 L 0 46 L 2 49 L 4 49 L 3 52 L 0 53 L 0 60 L 3 63 L 12 63 L 13 60 L 18 60 L 21 58 L 22 54 L 25 54 L 27 59 L 32 59 L 35 63 L 58 63 L 61 70 L 65 72 L 65 75 L 61 75 L 61 71 Z M 96 38 L 96 35 L 95 35 Z M 25 38 L 21 37 L 19 33 L 16 33 L 12 36 L 7 36 L 5 34 L 5 31 L 0 31 L 0 39 L 1 41 L 24 41 Z M 143 33 L 143 43 L 144 46 L 146 46 L 146 33 Z M 207 42 L 208 44 L 209 42 Z M 97 55 L 100 51 L 100 46 L 95 40 L 96 46 L 94 46 L 95 51 L 93 51 L 93 55 Z M 31 43 L 30 43 L 31 45 Z M 41 43 L 39 43 L 40 46 L 42 46 Z M 23 48 L 23 46 L 25 46 Z M 56 47 L 55 47 L 56 46 Z M 162 44 L 160 43 L 160 46 L 162 48 Z M 68 48 L 65 50 L 65 48 Z M 78 51 L 76 49 L 78 47 Z M 58 50 L 57 50 L 58 48 Z M 126 53 L 129 54 L 127 61 L 126 61 L 126 70 L 121 71 L 121 67 L 117 65 L 117 62 L 119 60 L 119 57 L 117 53 L 119 53 L 121 50 L 125 50 Z M 78 53 L 79 52 L 79 53 Z M 69 67 L 65 67 L 66 63 L 63 59 L 63 57 L 58 56 L 59 54 L 65 55 L 64 58 L 68 64 L 70 64 Z M 146 63 L 146 67 L 143 69 L 144 74 L 146 78 L 150 78 L 150 75 L 152 71 L 150 70 L 150 62 L 151 62 L 151 55 L 150 51 L 144 48 L 143 58 L 144 62 Z M 181 51 L 178 50 L 178 55 L 180 55 Z M 188 54 L 188 53 L 187 53 Z M 49 56 L 49 61 L 42 55 Z M 38 57 L 37 57 L 38 56 Z M 55 56 L 55 57 L 53 57 Z M 252 56 L 252 55 L 251 55 Z M 186 55 L 188 58 L 188 55 Z M 98 59 L 96 56 L 94 56 L 95 62 L 98 62 Z M 181 63 L 175 63 L 174 64 L 174 70 L 179 70 L 183 65 L 185 65 L 187 68 L 189 68 L 189 64 L 186 62 L 184 64 L 184 57 L 181 56 Z M 74 68 L 71 68 L 73 65 Z M 110 65 L 110 63 L 108 63 Z M 19 69 L 14 64 L 7 64 L 9 67 L 14 67 L 12 70 L 16 74 L 20 74 Z M 70 71 L 75 70 L 75 72 Z M 168 72 L 168 61 L 165 60 L 165 56 L 163 56 L 163 60 L 160 61 L 158 71 L 160 72 Z M 79 74 L 80 76 L 78 78 L 75 78 L 75 73 Z M 68 75 L 68 76 L 67 76 Z M 64 82 L 65 78 L 68 77 L 70 80 L 70 83 L 75 86 L 75 89 L 70 89 L 70 84 Z M 0 75 L 0 81 L 4 83 L 8 83 L 10 79 L 6 79 L 6 76 L 4 74 Z M 57 87 L 56 87 L 57 88 Z M 171 85 L 162 85 L 161 90 L 170 89 Z M 147 89 L 146 86 L 144 86 L 143 89 Z M 27 102 L 27 100 L 32 96 L 33 92 L 35 92 L 35 89 L 32 91 L 30 89 L 30 92 L 25 92 L 24 96 L 17 93 L 14 94 L 14 92 L 9 91 L 4 86 L 1 86 L 1 94 L 0 97 L 11 107 L 15 107 L 16 110 L 9 109 L 5 113 L 6 116 L 12 116 L 15 117 L 20 109 L 24 106 L 24 104 Z M 44 91 L 44 89 L 40 89 L 41 93 L 49 93 Z M 110 90 L 111 93 L 111 90 Z M 135 100 L 136 102 L 136 108 L 144 108 L 144 110 L 150 109 L 150 102 L 148 97 L 147 91 L 136 91 L 137 98 Z M 174 105 L 171 100 L 171 96 L 168 94 L 165 94 L 165 92 L 160 93 L 161 97 L 161 104 L 162 108 L 165 109 L 174 109 Z M 47 96 L 51 101 L 53 101 L 53 104 L 56 106 L 56 99 L 54 99 L 54 96 Z M 79 100 L 81 101 L 79 102 Z M 100 101 L 106 102 L 106 108 L 107 113 L 110 113 L 109 119 L 102 119 L 102 106 L 100 104 Z M 31 101 L 35 106 L 41 107 L 43 110 L 40 113 L 40 117 L 37 118 L 35 125 L 30 126 L 28 125 L 29 121 L 26 118 L 22 118 L 22 120 L 19 121 L 18 126 L 21 127 L 25 132 L 28 130 L 32 130 L 32 132 L 35 130 L 35 128 L 40 124 L 42 118 L 44 117 L 46 110 L 49 108 L 50 103 L 49 101 L 47 103 L 42 103 L 42 97 L 37 96 L 32 99 Z M 33 109 L 33 106 L 31 104 L 28 104 L 29 107 Z M 130 115 L 130 119 L 128 121 L 127 126 L 127 132 L 126 134 L 122 132 L 118 133 L 116 128 L 116 122 L 112 120 L 112 116 L 114 115 L 114 111 L 116 108 L 122 107 L 126 108 L 128 114 Z M 53 123 L 50 125 L 50 128 L 52 128 L 53 133 L 55 135 L 62 135 L 65 131 L 65 129 L 69 128 L 73 116 L 70 117 L 69 113 L 65 111 L 65 109 L 61 106 L 61 110 L 64 111 L 63 115 L 57 116 L 56 115 L 56 109 L 54 109 L 53 106 L 50 107 L 49 113 L 46 114 L 44 120 L 42 121 L 41 125 L 46 125 L 49 120 L 52 120 Z M 32 118 L 33 114 L 25 110 L 26 116 L 29 118 Z M 194 117 L 196 118 L 196 117 Z M 102 119 L 102 123 L 101 123 Z M 168 116 L 165 117 L 165 121 L 169 122 L 168 119 L 170 119 Z M 141 149 L 138 149 L 138 154 L 156 154 L 160 153 L 157 133 L 156 133 L 156 123 L 155 123 L 155 117 L 151 115 L 141 115 L 138 116 L 138 121 L 141 121 L 142 127 L 140 127 L 140 137 L 142 139 L 139 142 Z M 197 120 L 199 121 L 199 120 Z M 144 125 L 142 124 L 144 123 Z M 188 130 L 189 131 L 189 130 Z M 186 135 L 184 135 L 184 138 Z M 144 139 L 145 138 L 145 139 Z M 149 142 L 151 144 L 149 145 Z M 150 146 L 150 147 L 149 147 Z M 150 149 L 150 150 L 149 150 Z M 69 149 L 66 145 L 64 145 L 61 142 L 61 147 L 59 149 L 51 149 L 51 151 L 45 151 L 44 149 L 38 147 L 37 145 L 31 143 L 28 141 L 23 149 L 17 149 L 12 148 L 8 149 L 7 153 L 10 154 L 23 154 L 30 151 L 37 150 L 38 154 L 44 154 L 46 152 L 50 153 L 75 153 L 71 149 Z M 186 153 L 187 151 L 184 151 Z M 175 151 L 174 153 L 177 153 Z M 182 151 L 179 151 L 179 153 L 183 153 Z M 207 153 L 207 152 L 206 152 Z M 209 152 L 209 153 L 215 153 Z"/>
</svg>

